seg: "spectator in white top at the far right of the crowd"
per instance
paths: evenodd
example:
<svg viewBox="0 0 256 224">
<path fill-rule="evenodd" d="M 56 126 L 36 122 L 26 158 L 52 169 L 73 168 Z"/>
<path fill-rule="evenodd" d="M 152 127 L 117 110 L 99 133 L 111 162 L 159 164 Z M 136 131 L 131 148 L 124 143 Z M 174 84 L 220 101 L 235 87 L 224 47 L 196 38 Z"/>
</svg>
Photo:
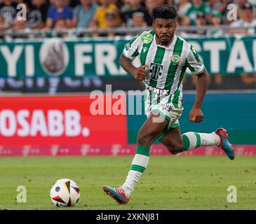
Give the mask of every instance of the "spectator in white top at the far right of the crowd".
<svg viewBox="0 0 256 224">
<path fill-rule="evenodd" d="M 245 3 L 244 6 L 239 8 L 239 17 L 240 20 L 232 22 L 230 27 L 237 27 L 241 29 L 231 29 L 231 33 L 240 33 L 240 34 L 254 34 L 256 27 L 256 20 L 253 11 L 253 7 L 250 3 Z M 243 29 L 250 28 L 250 29 Z"/>
</svg>

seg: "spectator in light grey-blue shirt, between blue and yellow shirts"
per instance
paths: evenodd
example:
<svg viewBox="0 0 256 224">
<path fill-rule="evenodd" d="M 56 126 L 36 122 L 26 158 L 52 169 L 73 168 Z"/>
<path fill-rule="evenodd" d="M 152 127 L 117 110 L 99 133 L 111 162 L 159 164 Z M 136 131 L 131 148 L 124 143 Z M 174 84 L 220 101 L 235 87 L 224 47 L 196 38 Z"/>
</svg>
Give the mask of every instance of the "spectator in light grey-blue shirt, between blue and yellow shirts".
<svg viewBox="0 0 256 224">
<path fill-rule="evenodd" d="M 93 3 L 93 0 L 80 0 L 80 3 L 74 8 L 72 27 L 89 27 L 97 10 L 97 4 Z"/>
</svg>

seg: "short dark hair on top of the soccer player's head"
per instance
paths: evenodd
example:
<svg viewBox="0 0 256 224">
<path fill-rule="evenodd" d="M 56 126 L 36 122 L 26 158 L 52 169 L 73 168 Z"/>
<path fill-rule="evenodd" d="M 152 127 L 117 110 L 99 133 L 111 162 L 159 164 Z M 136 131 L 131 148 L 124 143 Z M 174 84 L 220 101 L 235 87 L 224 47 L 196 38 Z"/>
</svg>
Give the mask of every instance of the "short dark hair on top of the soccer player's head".
<svg viewBox="0 0 256 224">
<path fill-rule="evenodd" d="M 155 6 L 152 8 L 152 18 L 156 20 L 156 18 L 162 19 L 175 19 L 177 17 L 177 9 L 175 6 L 168 6 L 166 4 L 161 6 Z"/>
</svg>

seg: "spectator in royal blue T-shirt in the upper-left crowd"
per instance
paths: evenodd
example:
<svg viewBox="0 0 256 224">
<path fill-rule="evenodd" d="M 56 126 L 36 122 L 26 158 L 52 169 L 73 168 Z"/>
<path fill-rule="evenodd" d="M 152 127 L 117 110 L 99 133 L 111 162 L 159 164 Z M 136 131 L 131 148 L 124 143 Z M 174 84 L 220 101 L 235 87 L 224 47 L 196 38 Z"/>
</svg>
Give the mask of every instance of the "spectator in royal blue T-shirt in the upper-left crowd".
<svg viewBox="0 0 256 224">
<path fill-rule="evenodd" d="M 55 22 L 59 19 L 65 19 L 67 27 L 72 27 L 72 8 L 67 6 L 65 0 L 54 0 L 54 4 L 48 9 L 46 19 L 46 29 L 55 27 Z"/>
</svg>

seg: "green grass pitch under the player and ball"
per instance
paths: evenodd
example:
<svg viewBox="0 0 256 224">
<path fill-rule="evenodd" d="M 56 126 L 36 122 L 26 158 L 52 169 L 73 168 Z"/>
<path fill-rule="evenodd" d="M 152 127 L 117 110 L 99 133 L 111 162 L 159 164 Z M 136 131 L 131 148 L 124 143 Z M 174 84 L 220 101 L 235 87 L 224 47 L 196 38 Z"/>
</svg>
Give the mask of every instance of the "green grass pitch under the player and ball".
<svg viewBox="0 0 256 224">
<path fill-rule="evenodd" d="M 120 186 L 133 157 L 0 158 L 0 209 L 256 209 L 255 157 L 151 156 L 130 202 L 119 205 L 102 186 Z M 74 180 L 81 197 L 73 208 L 49 196 L 58 179 Z M 27 188 L 27 203 L 15 198 Z M 227 202 L 236 186 L 237 202 Z"/>
</svg>

